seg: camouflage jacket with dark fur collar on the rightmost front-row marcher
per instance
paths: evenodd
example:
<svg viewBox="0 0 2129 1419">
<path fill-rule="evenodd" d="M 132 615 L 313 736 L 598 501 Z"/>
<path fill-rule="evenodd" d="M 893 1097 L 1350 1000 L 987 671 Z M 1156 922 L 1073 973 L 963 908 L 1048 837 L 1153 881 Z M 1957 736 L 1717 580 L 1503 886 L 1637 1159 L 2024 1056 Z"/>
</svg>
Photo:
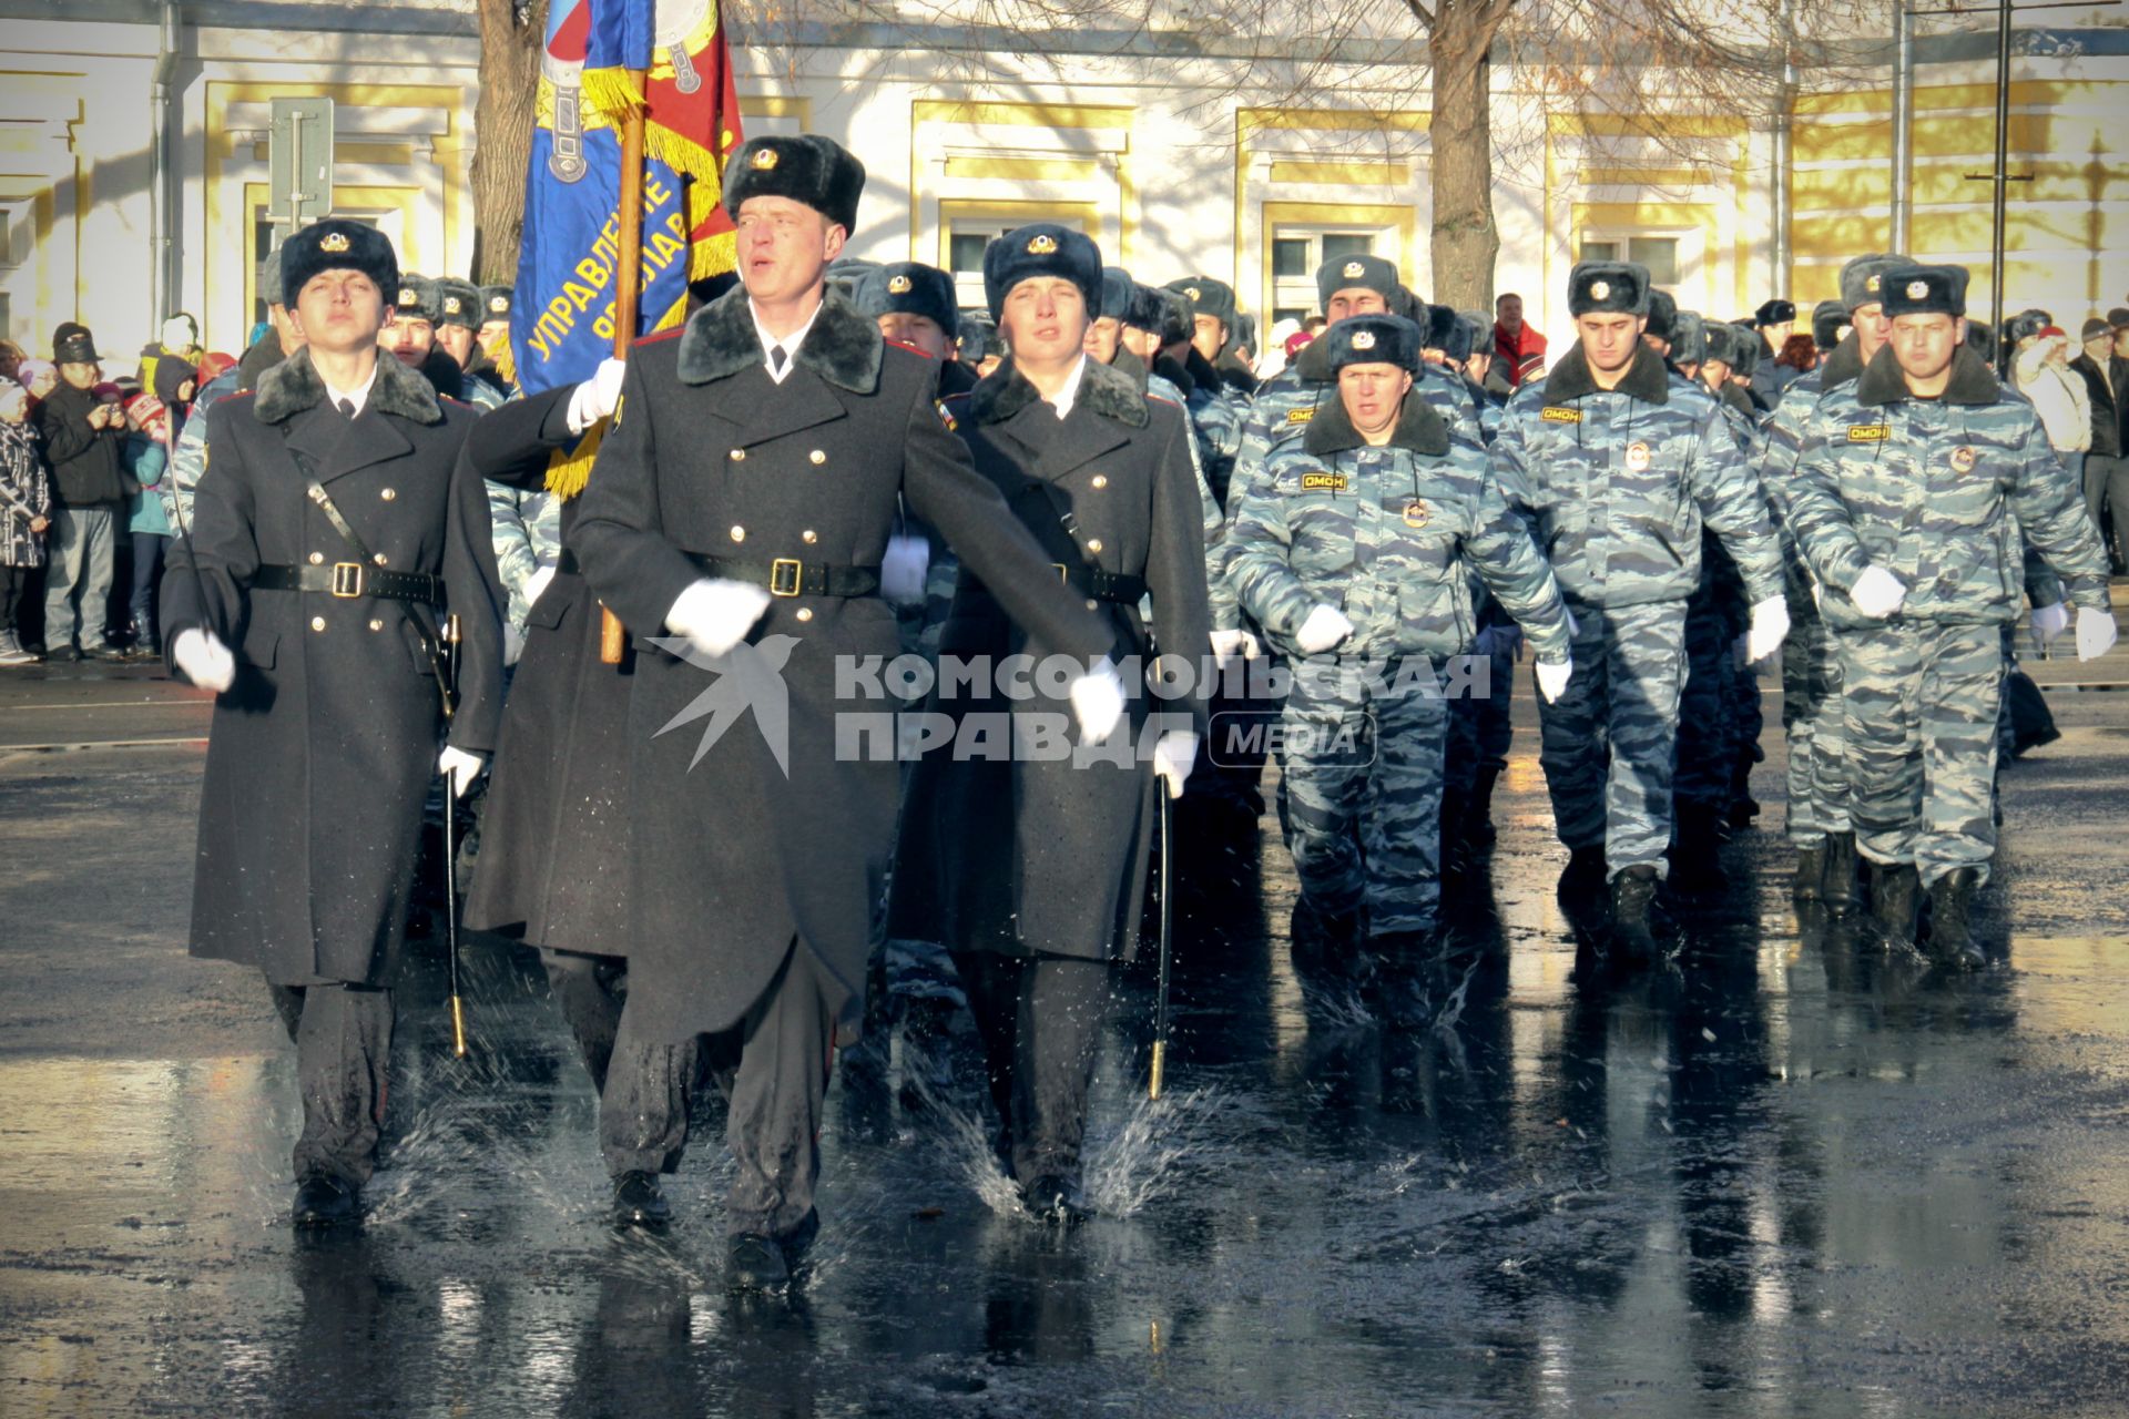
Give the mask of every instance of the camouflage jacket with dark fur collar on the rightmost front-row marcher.
<svg viewBox="0 0 2129 1419">
<path fill-rule="evenodd" d="M 1891 349 L 1820 396 L 1786 494 L 1788 528 L 1833 625 L 1871 625 L 1848 591 L 1869 566 L 1908 587 L 1910 621 L 2006 623 L 2018 615 L 2020 538 L 2078 606 L 2108 608 L 2106 555 L 2084 494 L 2040 415 L 1967 349 L 1940 400 L 1916 400 Z"/>
</svg>

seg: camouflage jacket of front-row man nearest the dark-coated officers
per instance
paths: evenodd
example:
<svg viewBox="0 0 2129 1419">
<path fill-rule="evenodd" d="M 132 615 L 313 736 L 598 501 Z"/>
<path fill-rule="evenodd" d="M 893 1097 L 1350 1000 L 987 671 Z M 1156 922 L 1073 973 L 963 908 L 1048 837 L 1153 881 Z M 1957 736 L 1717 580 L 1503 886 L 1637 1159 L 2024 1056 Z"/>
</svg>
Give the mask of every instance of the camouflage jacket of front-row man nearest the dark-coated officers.
<svg viewBox="0 0 2129 1419">
<path fill-rule="evenodd" d="M 1301 655 L 1294 632 L 1318 604 L 1354 623 L 1341 657 L 1454 655 L 1478 634 L 1471 572 L 1539 655 L 1567 655 L 1552 568 L 1501 500 L 1486 455 L 1450 438 L 1414 396 L 1380 449 L 1333 400 L 1271 455 L 1228 519 L 1228 579 L 1286 655 Z"/>
</svg>

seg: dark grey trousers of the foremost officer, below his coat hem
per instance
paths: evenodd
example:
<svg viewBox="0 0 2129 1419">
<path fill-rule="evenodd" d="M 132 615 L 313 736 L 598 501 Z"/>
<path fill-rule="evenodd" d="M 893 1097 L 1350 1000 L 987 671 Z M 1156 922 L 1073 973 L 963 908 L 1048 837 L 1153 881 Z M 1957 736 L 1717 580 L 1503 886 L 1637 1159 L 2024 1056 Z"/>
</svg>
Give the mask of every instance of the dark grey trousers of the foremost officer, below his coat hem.
<svg viewBox="0 0 2129 1419">
<path fill-rule="evenodd" d="M 639 1034 L 622 1008 L 613 1062 L 598 1100 L 598 1145 L 607 1172 L 673 1172 L 688 1147 L 688 1098 L 696 1059 L 730 1100 L 726 1142 L 739 1164 L 724 1230 L 788 1236 L 813 1211 L 820 1181 L 820 1115 L 828 1094 L 835 1015 L 811 957 L 796 942 L 769 989 L 730 1030 L 686 1045 Z"/>
</svg>

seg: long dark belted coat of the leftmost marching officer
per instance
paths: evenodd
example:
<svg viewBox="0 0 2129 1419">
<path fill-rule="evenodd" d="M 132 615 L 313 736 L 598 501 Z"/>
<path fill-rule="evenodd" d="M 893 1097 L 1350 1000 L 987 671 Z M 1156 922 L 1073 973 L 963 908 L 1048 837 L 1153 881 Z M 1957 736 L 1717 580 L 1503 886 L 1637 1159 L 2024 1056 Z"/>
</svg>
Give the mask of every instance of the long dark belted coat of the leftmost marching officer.
<svg viewBox="0 0 2129 1419">
<path fill-rule="evenodd" d="M 298 353 L 207 419 L 192 538 L 162 581 L 170 642 L 202 628 L 236 655 L 207 751 L 192 953 L 275 985 L 390 985 L 443 736 L 439 613 L 253 579 L 341 568 L 353 585 L 356 553 L 307 496 L 309 466 L 373 553 L 364 577 L 443 579 L 464 636 L 449 742 L 490 753 L 502 657 L 488 496 L 456 472 L 475 415 L 383 355 L 349 421 Z"/>
</svg>

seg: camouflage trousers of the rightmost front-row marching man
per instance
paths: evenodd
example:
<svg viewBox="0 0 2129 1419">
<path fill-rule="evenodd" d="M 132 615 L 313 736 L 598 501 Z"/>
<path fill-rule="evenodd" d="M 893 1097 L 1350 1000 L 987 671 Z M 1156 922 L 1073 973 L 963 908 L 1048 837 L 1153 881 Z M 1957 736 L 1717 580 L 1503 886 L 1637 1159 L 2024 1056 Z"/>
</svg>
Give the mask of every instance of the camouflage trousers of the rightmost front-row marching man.
<svg viewBox="0 0 2129 1419">
<path fill-rule="evenodd" d="M 1995 625 L 1895 621 L 1835 634 L 1848 711 L 1850 815 L 1871 862 L 1988 879 L 2003 700 Z"/>
</svg>

